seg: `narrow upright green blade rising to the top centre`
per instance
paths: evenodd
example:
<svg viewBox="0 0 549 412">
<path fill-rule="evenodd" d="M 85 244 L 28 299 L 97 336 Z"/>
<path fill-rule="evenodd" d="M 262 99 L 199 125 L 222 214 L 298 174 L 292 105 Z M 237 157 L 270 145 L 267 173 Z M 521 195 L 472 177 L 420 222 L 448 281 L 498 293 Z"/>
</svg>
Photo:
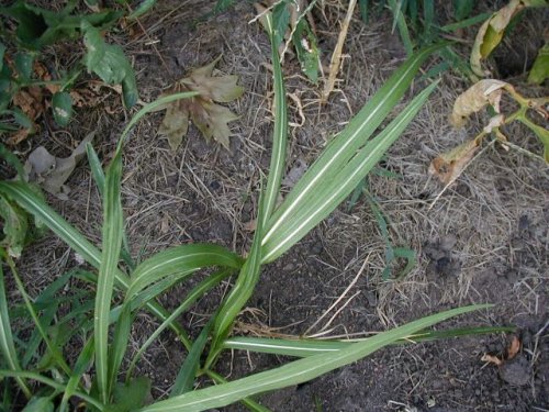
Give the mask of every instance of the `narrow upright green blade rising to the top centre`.
<svg viewBox="0 0 549 412">
<path fill-rule="evenodd" d="M 264 227 L 267 225 L 267 221 L 277 205 L 280 182 L 282 181 L 282 175 L 285 169 L 285 149 L 288 142 L 288 104 L 285 102 L 284 81 L 282 78 L 282 69 L 280 67 L 278 46 L 274 42 L 272 15 L 270 13 L 266 15 L 266 25 L 271 42 L 272 78 L 274 89 L 274 130 L 272 132 L 272 152 L 269 177 L 265 189 Z"/>
</svg>

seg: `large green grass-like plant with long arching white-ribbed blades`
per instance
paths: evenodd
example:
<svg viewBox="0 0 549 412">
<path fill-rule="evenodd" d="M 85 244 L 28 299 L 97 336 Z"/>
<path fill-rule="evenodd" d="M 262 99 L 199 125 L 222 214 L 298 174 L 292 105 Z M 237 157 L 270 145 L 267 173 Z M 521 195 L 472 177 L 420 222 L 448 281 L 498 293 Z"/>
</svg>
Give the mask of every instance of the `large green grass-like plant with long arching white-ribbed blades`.
<svg viewBox="0 0 549 412">
<path fill-rule="evenodd" d="M 12 258 L 2 250 L 2 258 L 10 267 L 24 301 L 20 307 L 8 307 L 3 274 L 0 270 L 0 349 L 3 357 L 0 378 L 4 378 L 4 394 L 12 393 L 13 388 L 19 387 L 20 399 L 24 397 L 30 405 L 52 411 L 67 411 L 72 397 L 80 399 L 90 410 L 98 411 L 202 411 L 236 401 L 243 401 L 251 410 L 265 411 L 264 407 L 249 397 L 313 379 L 386 345 L 403 343 L 404 338 L 410 342 L 414 334 L 421 333 L 415 336 L 418 341 L 440 337 L 427 329 L 449 318 L 486 308 L 472 305 L 449 310 L 362 342 L 333 343 L 329 347 L 326 343 L 316 341 L 229 337 L 236 316 L 259 281 L 261 266 L 289 250 L 352 192 L 399 138 L 436 88 L 434 82 L 419 92 L 394 120 L 374 135 L 407 90 L 419 66 L 439 48 L 438 46 L 411 56 L 347 127 L 334 137 L 282 204 L 277 207 L 280 182 L 285 169 L 288 119 L 270 15 L 267 15 L 267 23 L 272 44 L 274 83 L 273 145 L 268 179 L 265 190 L 260 193 L 257 229 L 246 258 L 221 246 L 191 244 L 159 252 L 134 268 L 121 263 L 124 225 L 120 187 L 124 140 L 146 113 L 176 99 L 192 97 L 193 93 L 165 97 L 137 112 L 122 133 L 115 156 L 104 174 L 93 149 L 89 147 L 92 175 L 103 199 L 101 249 L 49 208 L 26 182 L 0 182 L 0 194 L 34 215 L 36 221 L 49 227 L 94 268 L 94 272 L 68 272 L 48 286 L 40 297 L 32 299 L 25 292 Z M 195 286 L 173 312 L 167 312 L 157 302 L 158 296 L 206 267 L 216 270 Z M 235 272 L 238 275 L 231 291 L 200 335 L 192 341 L 177 322 L 177 318 L 201 296 Z M 96 285 L 93 299 L 89 299 L 89 289 L 78 287 L 71 288 L 70 293 L 63 299 L 58 298 L 58 291 L 70 279 L 79 279 L 83 285 Z M 68 314 L 57 315 L 60 304 L 69 308 Z M 121 370 L 126 357 L 132 322 L 144 309 L 153 313 L 161 324 L 130 360 L 130 366 Z M 22 342 L 12 331 L 11 319 L 25 316 L 32 319 L 34 329 L 29 341 Z M 78 327 L 75 327 L 75 324 Z M 167 327 L 177 334 L 189 353 L 169 398 L 145 405 L 150 383 L 144 377 L 134 377 L 133 371 L 146 348 Z M 449 335 L 462 333 L 463 331 L 456 331 Z M 72 344 L 82 344 L 79 356 L 71 365 L 63 352 L 69 339 Z M 44 348 L 43 353 L 37 350 L 41 346 Z M 220 354 L 226 348 L 284 354 L 301 359 L 226 382 L 215 372 Z M 205 360 L 202 363 L 202 359 Z M 83 379 L 89 370 L 92 370 L 93 377 L 91 387 L 86 385 Z M 124 375 L 125 380 L 122 380 Z M 199 376 L 208 376 L 216 385 L 193 390 L 193 383 Z M 13 398 L 4 397 L 5 408 L 9 409 L 10 402 L 15 402 Z"/>
</svg>

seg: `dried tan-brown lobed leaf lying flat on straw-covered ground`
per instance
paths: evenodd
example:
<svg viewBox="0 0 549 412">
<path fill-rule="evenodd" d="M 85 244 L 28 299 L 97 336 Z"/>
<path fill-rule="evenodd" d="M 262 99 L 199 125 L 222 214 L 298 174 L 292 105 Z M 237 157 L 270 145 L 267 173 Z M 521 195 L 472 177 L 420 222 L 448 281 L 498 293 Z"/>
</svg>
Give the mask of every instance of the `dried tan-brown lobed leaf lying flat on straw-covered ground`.
<svg viewBox="0 0 549 412">
<path fill-rule="evenodd" d="M 204 67 L 200 67 L 173 85 L 168 93 L 198 91 L 200 96 L 177 100 L 163 107 L 166 109 L 158 134 L 168 137 L 170 148 L 175 152 L 187 134 L 189 119 L 202 132 L 206 140 L 214 138 L 228 149 L 231 130 L 228 122 L 238 116 L 227 108 L 216 104 L 227 103 L 239 98 L 244 88 L 237 86 L 238 76 L 213 77 L 212 71 L 221 56 Z"/>
</svg>

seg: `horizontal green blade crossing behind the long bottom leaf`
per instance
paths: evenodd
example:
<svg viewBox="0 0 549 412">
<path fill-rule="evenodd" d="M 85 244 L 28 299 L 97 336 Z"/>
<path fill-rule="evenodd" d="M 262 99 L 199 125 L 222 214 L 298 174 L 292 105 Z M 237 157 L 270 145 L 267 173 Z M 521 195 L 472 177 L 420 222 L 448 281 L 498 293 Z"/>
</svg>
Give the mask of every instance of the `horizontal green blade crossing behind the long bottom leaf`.
<svg viewBox="0 0 549 412">
<path fill-rule="evenodd" d="M 489 333 L 516 332 L 514 326 L 480 326 L 460 327 L 447 331 L 426 331 L 412 334 L 394 341 L 391 345 L 408 345 L 422 342 L 446 339 L 451 337 L 482 335 Z M 366 342 L 370 337 L 352 341 L 324 341 L 324 339 L 277 339 L 264 337 L 229 337 L 223 343 L 225 349 L 249 350 L 264 354 L 309 357 L 318 354 L 345 349 L 357 342 Z"/>
</svg>

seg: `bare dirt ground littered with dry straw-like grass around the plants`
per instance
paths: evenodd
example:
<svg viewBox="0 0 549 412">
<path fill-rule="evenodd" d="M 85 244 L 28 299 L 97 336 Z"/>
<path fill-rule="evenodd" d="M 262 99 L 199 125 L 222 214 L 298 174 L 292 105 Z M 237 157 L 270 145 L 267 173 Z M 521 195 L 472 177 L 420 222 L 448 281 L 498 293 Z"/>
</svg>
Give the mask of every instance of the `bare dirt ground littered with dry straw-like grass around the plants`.
<svg viewBox="0 0 549 412">
<path fill-rule="evenodd" d="M 124 46 L 133 58 L 144 101 L 153 100 L 189 69 L 220 54 L 223 57 L 217 73 L 238 75 L 246 89 L 242 99 L 229 104 L 240 116 L 232 124 L 229 152 L 206 143 L 191 126 L 182 147 L 171 153 L 167 141 L 156 133 L 159 114 L 147 116 L 135 129 L 124 154 L 122 188 L 134 256 L 146 257 L 168 246 L 202 241 L 239 253 L 249 247 L 249 222 L 256 213 L 259 178 L 267 170 L 271 145 L 269 44 L 259 24 L 248 24 L 255 11 L 247 1 L 193 24 L 213 3 L 160 1 L 154 13 L 142 21 L 146 35 L 126 41 Z M 325 64 L 329 63 L 338 21 L 346 11 L 345 5 L 327 3 L 326 15 L 317 16 Z M 484 11 L 489 5 L 478 9 Z M 548 22 L 546 18 L 544 13 L 531 14 L 520 33 L 527 40 L 536 38 Z M 391 34 L 391 23 L 388 12 L 369 25 L 357 14 L 345 45 L 341 80 L 325 107 L 320 108 L 320 89 L 300 76 L 298 63 L 285 63 L 288 92 L 302 104 L 300 113 L 298 103 L 289 100 L 292 125 L 288 170 L 299 172 L 302 165 L 312 164 L 327 140 L 343 129 L 404 59 L 397 35 Z M 474 31 L 464 32 L 467 47 L 473 37 Z M 538 46 L 535 40 L 520 47 L 504 44 L 496 63 L 513 60 L 518 67 L 511 70 L 505 66 L 505 79 L 524 85 L 524 70 Z M 430 65 L 436 62 L 433 59 Z M 426 85 L 417 80 L 413 93 Z M 455 98 L 467 85 L 458 75 L 446 73 L 437 91 L 382 163 L 384 169 L 399 177 L 372 175 L 369 179 L 370 192 L 391 222 L 392 243 L 416 252 L 417 266 L 412 272 L 400 281 L 382 279 L 385 246 L 374 216 L 363 199 L 351 209 L 345 202 L 296 247 L 264 268 L 236 333 L 303 334 L 365 265 L 345 301 L 352 299 L 329 325 L 327 316 L 311 333 L 329 330 L 330 336 L 367 336 L 445 309 L 490 302 L 494 303 L 492 309 L 440 327 L 516 325 L 523 343 L 520 353 L 501 368 L 481 361 L 486 353 L 506 350 L 512 335 L 504 334 L 392 347 L 312 382 L 259 397 L 266 407 L 273 411 L 549 410 L 547 166 L 523 153 L 490 144 L 446 190 L 427 174 L 429 162 L 438 153 L 473 136 L 482 125 L 480 118 L 457 131 L 447 121 Z M 522 90 L 530 94 L 544 92 L 539 88 Z M 107 115 L 98 109 L 79 114 L 78 132 L 71 136 L 57 132 L 56 137 L 70 146 L 97 130 L 94 147 L 107 163 L 126 121 L 122 111 Z M 516 145 L 541 152 L 540 144 L 523 127 L 509 127 L 507 135 Z M 37 138 L 47 137 L 43 134 Z M 49 143 L 48 148 L 64 154 L 57 144 Z M 86 164 L 68 185 L 69 199 L 52 198 L 51 203 L 99 244 L 99 194 Z M 57 274 L 77 265 L 74 253 L 48 236 L 29 248 L 21 272 L 38 290 Z M 176 308 L 181 293 L 190 287 L 177 287 L 163 303 Z M 182 324 L 199 332 L 227 287 L 223 285 L 206 296 L 182 316 Z M 145 314 L 139 318 L 132 333 L 135 347 L 155 324 Z M 147 352 L 141 371 L 153 378 L 154 397 L 167 393 L 178 371 L 175 366 L 183 358 L 181 345 L 167 332 Z M 221 369 L 228 379 L 235 379 L 288 360 L 235 352 L 225 355 Z M 226 410 L 239 411 L 244 407 Z"/>
</svg>

